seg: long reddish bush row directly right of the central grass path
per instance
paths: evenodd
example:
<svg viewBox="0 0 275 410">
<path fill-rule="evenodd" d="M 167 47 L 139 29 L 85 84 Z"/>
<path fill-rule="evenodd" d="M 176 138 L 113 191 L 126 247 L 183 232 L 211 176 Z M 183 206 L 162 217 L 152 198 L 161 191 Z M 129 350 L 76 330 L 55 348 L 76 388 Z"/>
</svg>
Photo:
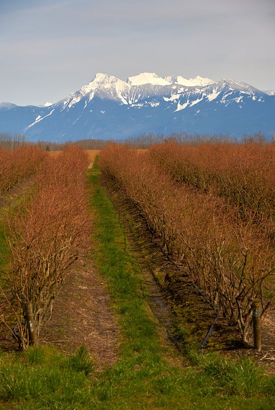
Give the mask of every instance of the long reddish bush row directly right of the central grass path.
<svg viewBox="0 0 275 410">
<path fill-rule="evenodd" d="M 178 185 L 152 160 L 152 152 L 109 145 L 99 166 L 142 209 L 167 252 L 228 323 L 238 325 L 248 345 L 251 301 L 260 299 L 261 316 L 270 304 L 268 277 L 275 271 L 271 220 L 269 226 L 255 224 L 213 191 Z"/>
</svg>

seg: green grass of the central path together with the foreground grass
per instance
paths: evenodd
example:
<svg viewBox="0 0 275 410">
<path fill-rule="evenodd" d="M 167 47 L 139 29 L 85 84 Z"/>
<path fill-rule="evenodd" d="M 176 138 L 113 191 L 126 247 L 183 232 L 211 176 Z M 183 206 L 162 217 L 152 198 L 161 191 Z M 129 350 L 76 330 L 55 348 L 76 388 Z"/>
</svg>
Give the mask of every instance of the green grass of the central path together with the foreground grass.
<svg viewBox="0 0 275 410">
<path fill-rule="evenodd" d="M 188 365 L 178 365 L 180 357 L 158 335 L 141 269 L 96 165 L 88 179 L 95 210 L 93 253 L 121 329 L 119 359 L 96 372 L 84 346 L 71 356 L 42 345 L 24 353 L 1 352 L 0 409 L 274 410 L 275 376 L 265 376 L 247 358 L 193 354 Z"/>
</svg>

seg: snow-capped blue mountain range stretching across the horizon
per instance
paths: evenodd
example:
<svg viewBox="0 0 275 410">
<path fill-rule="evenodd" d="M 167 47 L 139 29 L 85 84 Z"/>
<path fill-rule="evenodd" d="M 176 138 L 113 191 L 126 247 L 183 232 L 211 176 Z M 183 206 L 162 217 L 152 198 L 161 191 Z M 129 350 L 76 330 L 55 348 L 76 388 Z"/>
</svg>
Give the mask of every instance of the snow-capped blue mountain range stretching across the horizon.
<svg viewBox="0 0 275 410">
<path fill-rule="evenodd" d="M 0 132 L 27 139 L 123 139 L 142 133 L 275 133 L 275 95 L 232 79 L 159 77 L 127 81 L 97 73 L 67 98 L 44 107 L 0 104 Z"/>
</svg>

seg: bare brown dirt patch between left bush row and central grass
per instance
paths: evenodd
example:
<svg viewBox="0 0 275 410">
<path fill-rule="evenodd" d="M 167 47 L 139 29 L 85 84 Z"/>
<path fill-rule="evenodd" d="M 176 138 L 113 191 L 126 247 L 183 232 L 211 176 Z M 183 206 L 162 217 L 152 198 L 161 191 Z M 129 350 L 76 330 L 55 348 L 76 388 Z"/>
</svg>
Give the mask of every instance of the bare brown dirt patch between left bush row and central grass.
<svg viewBox="0 0 275 410">
<path fill-rule="evenodd" d="M 116 361 L 119 329 L 107 286 L 87 255 L 68 274 L 39 340 L 65 352 L 76 352 L 84 344 L 99 368 Z"/>
</svg>

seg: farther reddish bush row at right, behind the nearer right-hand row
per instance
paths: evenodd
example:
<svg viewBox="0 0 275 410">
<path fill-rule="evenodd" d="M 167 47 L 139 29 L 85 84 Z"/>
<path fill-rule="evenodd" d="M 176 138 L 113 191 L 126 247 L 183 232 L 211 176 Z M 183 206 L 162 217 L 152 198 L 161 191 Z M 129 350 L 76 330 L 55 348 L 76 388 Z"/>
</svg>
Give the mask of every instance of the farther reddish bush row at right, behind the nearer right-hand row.
<svg viewBox="0 0 275 410">
<path fill-rule="evenodd" d="M 176 182 L 225 198 L 240 214 L 275 219 L 275 145 L 166 142 L 151 158 Z"/>
</svg>

